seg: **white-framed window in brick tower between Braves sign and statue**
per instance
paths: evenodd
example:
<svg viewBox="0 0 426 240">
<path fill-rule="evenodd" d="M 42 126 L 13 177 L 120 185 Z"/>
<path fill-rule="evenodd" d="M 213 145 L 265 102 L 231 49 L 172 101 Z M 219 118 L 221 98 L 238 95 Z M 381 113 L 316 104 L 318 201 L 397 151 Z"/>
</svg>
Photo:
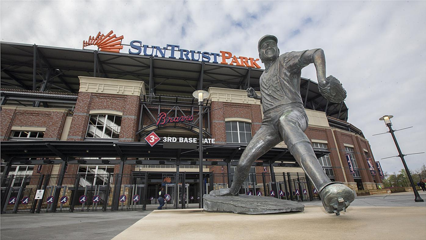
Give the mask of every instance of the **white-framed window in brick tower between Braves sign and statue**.
<svg viewBox="0 0 426 240">
<path fill-rule="evenodd" d="M 249 123 L 240 121 L 225 122 L 226 142 L 248 143 L 251 140 Z"/>
</svg>

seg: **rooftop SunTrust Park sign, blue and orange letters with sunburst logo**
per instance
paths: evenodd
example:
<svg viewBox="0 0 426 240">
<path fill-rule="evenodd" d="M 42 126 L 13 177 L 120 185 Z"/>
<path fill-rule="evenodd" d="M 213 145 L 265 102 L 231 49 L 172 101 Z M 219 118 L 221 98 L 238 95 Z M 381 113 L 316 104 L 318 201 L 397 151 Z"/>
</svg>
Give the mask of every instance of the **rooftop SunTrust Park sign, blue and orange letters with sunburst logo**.
<svg viewBox="0 0 426 240">
<path fill-rule="evenodd" d="M 107 33 L 107 35 L 98 34 L 95 36 L 89 36 L 89 39 L 83 41 L 83 49 L 86 46 L 95 45 L 98 46 L 99 50 L 104 52 L 120 52 L 123 49 L 123 44 L 121 43 L 124 39 L 124 36 L 116 37 L 112 35 L 112 30 Z M 124 44 L 126 45 L 126 44 Z M 166 46 L 155 46 L 155 45 L 146 45 L 142 44 L 141 40 L 132 40 L 130 42 L 130 54 L 134 55 L 144 55 L 144 56 L 154 56 L 161 58 L 173 58 L 189 61 L 201 61 L 201 62 L 212 62 L 214 64 L 229 64 L 236 65 L 240 67 L 253 67 L 261 68 L 257 63 L 259 58 L 247 58 L 242 56 L 233 55 L 231 52 L 219 51 L 218 52 L 207 52 L 207 51 L 198 51 L 198 50 L 188 50 L 183 49 L 180 45 L 167 44 Z"/>
</svg>

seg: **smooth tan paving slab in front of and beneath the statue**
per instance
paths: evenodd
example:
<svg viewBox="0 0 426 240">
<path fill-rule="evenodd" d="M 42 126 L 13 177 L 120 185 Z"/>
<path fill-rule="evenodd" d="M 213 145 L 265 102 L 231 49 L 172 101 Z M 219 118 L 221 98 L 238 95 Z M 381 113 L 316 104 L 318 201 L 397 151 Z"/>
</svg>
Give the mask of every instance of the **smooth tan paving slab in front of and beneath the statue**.
<svg viewBox="0 0 426 240">
<path fill-rule="evenodd" d="M 113 240 L 426 239 L 425 225 L 424 207 L 350 206 L 340 216 L 310 205 L 285 214 L 155 210 Z"/>
</svg>

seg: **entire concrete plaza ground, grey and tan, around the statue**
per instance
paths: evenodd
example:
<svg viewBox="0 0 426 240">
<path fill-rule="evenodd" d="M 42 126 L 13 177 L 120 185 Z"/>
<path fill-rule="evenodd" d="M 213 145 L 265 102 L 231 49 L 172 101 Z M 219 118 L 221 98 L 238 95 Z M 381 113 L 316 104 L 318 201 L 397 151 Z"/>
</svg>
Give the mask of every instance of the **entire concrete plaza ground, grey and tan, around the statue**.
<svg viewBox="0 0 426 240">
<path fill-rule="evenodd" d="M 304 213 L 264 215 L 197 209 L 3 214 L 0 237 L 157 239 L 161 232 L 161 239 L 426 239 L 426 203 L 414 202 L 412 192 L 357 197 L 340 216 L 325 214 L 319 201 L 302 203 Z"/>
</svg>

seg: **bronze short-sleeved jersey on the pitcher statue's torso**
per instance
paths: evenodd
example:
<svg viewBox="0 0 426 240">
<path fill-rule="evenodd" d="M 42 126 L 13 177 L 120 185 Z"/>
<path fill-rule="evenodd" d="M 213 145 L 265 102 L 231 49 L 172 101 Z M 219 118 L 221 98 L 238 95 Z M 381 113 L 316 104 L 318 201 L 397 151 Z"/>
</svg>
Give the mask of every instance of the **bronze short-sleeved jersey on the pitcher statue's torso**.
<svg viewBox="0 0 426 240">
<path fill-rule="evenodd" d="M 305 64 L 301 57 L 306 51 L 308 50 L 286 52 L 275 60 L 268 71 L 262 73 L 260 93 L 262 94 L 263 112 L 283 104 L 302 103 L 300 75 L 302 68 L 308 66 L 309 63 Z"/>
</svg>

